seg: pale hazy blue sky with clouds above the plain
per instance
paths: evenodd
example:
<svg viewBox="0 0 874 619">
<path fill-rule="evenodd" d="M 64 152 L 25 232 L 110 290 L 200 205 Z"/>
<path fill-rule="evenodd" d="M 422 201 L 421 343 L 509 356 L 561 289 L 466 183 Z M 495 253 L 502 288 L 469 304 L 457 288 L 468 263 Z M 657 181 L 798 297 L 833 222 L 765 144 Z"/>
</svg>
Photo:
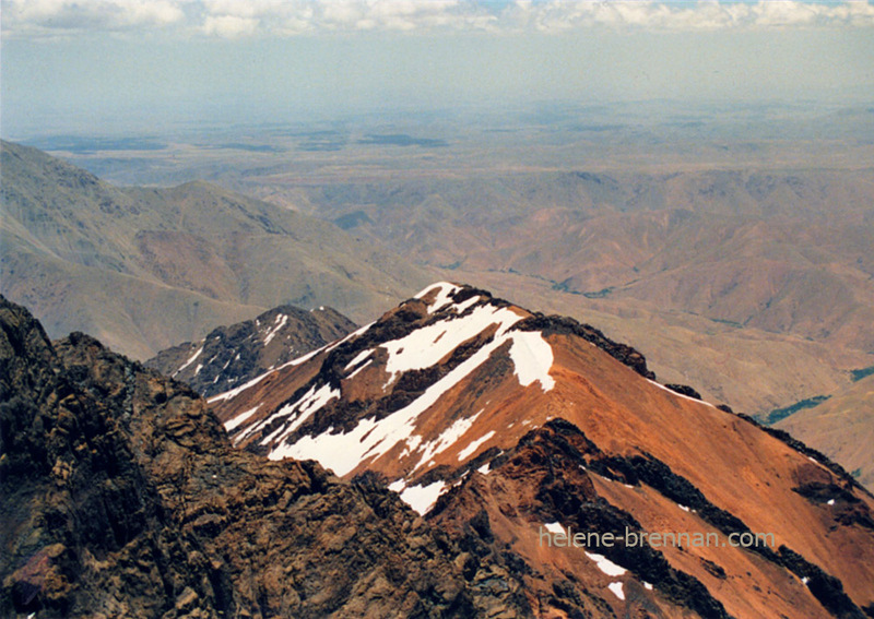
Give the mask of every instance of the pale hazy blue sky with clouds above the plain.
<svg viewBox="0 0 874 619">
<path fill-rule="evenodd" d="M 0 0 L 0 134 L 538 102 L 874 103 L 874 4 Z"/>
</svg>

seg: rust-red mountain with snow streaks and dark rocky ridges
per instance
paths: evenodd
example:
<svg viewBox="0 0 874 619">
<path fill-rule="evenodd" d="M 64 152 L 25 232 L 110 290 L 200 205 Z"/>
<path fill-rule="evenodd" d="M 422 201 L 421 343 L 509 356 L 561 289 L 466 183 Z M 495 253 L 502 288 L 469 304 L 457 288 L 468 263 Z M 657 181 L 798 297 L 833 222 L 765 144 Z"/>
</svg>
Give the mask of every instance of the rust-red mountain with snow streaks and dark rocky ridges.
<svg viewBox="0 0 874 619">
<path fill-rule="evenodd" d="M 842 468 L 485 290 L 429 286 L 209 402 L 241 451 L 377 475 L 538 617 L 874 616 L 874 498 Z"/>
</svg>

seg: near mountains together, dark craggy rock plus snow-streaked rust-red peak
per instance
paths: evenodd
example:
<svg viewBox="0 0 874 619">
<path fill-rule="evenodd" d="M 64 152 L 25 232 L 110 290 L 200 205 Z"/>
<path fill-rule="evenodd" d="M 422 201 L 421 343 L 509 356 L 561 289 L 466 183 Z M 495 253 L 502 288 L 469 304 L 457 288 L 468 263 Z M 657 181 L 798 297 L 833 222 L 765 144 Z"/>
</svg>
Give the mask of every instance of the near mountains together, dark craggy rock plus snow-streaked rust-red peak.
<svg viewBox="0 0 874 619">
<path fill-rule="evenodd" d="M 210 403 L 0 326 L 5 615 L 874 616 L 874 497 L 571 319 L 439 283 Z"/>
</svg>

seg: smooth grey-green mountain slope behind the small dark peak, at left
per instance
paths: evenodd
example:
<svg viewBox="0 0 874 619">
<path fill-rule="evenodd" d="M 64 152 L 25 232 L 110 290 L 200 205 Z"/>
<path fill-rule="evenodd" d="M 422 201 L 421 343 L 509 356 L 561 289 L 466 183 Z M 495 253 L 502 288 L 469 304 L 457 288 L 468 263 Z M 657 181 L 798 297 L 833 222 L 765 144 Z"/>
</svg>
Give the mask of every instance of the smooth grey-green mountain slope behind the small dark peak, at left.
<svg viewBox="0 0 874 619">
<path fill-rule="evenodd" d="M 3 142 L 0 291 L 140 359 L 282 303 L 355 320 L 430 277 L 335 225 L 203 182 L 117 188 Z"/>
</svg>

